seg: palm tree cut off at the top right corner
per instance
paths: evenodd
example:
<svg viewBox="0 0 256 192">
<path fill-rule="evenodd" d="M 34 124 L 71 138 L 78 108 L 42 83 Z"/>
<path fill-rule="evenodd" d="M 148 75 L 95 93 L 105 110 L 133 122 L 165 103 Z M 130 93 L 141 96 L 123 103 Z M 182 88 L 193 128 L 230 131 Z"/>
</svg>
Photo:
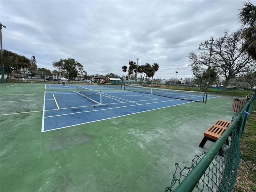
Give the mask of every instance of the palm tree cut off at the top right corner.
<svg viewBox="0 0 256 192">
<path fill-rule="evenodd" d="M 248 26 L 242 32 L 242 38 L 245 40 L 242 51 L 248 52 L 248 55 L 256 60 L 256 6 L 251 2 L 244 3 L 238 14 L 238 20 L 242 27 Z"/>
</svg>

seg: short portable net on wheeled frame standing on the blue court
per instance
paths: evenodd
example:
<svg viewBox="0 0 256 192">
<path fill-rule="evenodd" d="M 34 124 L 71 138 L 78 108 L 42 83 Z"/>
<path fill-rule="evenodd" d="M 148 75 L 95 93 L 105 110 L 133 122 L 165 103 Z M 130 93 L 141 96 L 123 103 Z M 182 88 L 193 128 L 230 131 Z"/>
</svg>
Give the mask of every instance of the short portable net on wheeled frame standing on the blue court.
<svg viewBox="0 0 256 192">
<path fill-rule="evenodd" d="M 84 98 L 87 98 L 87 99 L 91 100 L 92 102 L 96 103 L 94 105 L 94 107 L 96 105 L 107 105 L 108 106 L 108 104 L 102 103 L 102 94 L 101 94 L 101 91 L 99 91 L 99 90 L 88 89 L 88 88 L 76 85 L 76 93 L 80 94 Z"/>
</svg>

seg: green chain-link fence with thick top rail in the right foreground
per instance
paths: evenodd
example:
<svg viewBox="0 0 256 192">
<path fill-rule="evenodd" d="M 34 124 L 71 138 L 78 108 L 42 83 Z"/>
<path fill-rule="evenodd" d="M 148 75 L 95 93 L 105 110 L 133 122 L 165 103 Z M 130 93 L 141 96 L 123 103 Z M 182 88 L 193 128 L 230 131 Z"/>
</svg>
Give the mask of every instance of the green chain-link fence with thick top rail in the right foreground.
<svg viewBox="0 0 256 192">
<path fill-rule="evenodd" d="M 239 138 L 256 99 L 256 91 L 232 117 L 232 123 L 214 145 L 196 155 L 190 167 L 176 163 L 170 186 L 165 192 L 231 192 L 241 158 Z M 229 144 L 226 144 L 226 140 Z"/>
</svg>

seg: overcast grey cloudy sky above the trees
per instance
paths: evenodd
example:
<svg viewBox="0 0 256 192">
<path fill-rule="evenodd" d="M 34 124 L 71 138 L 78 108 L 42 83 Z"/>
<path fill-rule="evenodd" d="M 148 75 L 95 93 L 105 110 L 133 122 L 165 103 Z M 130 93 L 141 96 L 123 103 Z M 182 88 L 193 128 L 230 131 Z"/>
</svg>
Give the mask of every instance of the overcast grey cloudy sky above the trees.
<svg viewBox="0 0 256 192">
<path fill-rule="evenodd" d="M 241 0 L 1 0 L 3 48 L 38 68 L 74 58 L 87 74 L 123 75 L 129 60 L 159 64 L 154 78 L 191 77 L 188 54 L 234 32 Z M 127 72 L 126 72 L 127 74 Z"/>
</svg>

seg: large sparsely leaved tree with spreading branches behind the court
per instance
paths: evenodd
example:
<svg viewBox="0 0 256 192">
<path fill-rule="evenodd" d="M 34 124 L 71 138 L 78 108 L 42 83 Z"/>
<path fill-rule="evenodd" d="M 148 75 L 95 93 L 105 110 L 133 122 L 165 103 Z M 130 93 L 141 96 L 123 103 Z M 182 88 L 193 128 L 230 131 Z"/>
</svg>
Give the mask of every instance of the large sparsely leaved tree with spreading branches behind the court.
<svg viewBox="0 0 256 192">
<path fill-rule="evenodd" d="M 196 65 L 205 69 L 214 68 L 216 72 L 225 77 L 222 93 L 226 92 L 226 87 L 232 78 L 256 66 L 252 57 L 241 50 L 241 33 L 238 30 L 229 34 L 228 30 L 225 30 L 224 36 L 217 40 L 212 41 L 211 37 L 210 40 L 200 43 L 198 46 L 198 50 L 201 51 L 199 56 L 193 52 L 189 55 L 192 69 Z"/>
</svg>

